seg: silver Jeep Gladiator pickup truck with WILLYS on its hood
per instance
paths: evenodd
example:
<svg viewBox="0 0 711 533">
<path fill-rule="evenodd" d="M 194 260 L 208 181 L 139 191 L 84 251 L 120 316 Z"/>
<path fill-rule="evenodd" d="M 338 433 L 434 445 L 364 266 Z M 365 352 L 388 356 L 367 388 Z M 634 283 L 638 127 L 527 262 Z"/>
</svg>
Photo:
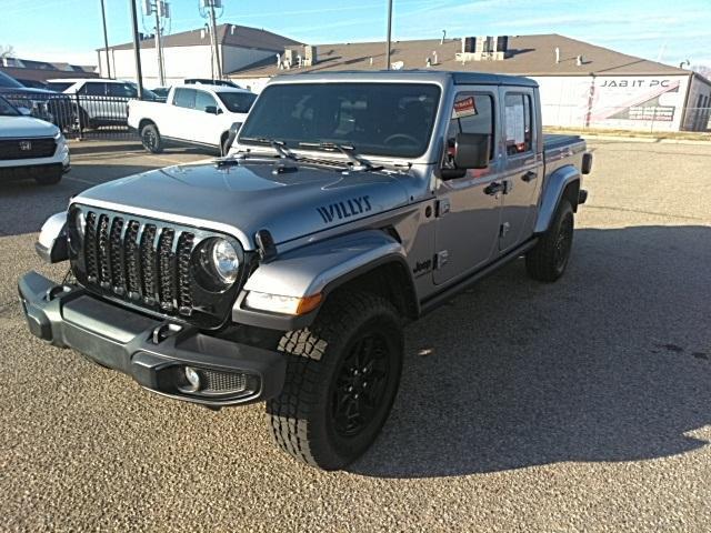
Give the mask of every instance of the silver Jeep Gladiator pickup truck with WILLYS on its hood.
<svg viewBox="0 0 711 533">
<path fill-rule="evenodd" d="M 541 131 L 538 86 L 457 72 L 272 80 L 230 154 L 71 199 L 19 282 L 30 331 L 212 409 L 267 402 L 274 441 L 333 470 L 373 442 L 403 323 L 524 257 L 569 261 L 592 158 Z"/>
</svg>

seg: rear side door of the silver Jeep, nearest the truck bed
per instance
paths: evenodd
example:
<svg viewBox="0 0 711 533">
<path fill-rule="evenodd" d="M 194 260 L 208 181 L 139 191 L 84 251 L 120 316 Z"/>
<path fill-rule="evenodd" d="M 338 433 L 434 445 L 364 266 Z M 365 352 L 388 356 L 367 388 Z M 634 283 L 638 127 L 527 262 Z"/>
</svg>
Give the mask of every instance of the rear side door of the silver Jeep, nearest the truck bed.
<svg viewBox="0 0 711 533">
<path fill-rule="evenodd" d="M 502 87 L 505 150 L 503 209 L 499 249 L 505 252 L 533 232 L 538 190 L 543 177 L 534 93 L 531 88 Z"/>
</svg>

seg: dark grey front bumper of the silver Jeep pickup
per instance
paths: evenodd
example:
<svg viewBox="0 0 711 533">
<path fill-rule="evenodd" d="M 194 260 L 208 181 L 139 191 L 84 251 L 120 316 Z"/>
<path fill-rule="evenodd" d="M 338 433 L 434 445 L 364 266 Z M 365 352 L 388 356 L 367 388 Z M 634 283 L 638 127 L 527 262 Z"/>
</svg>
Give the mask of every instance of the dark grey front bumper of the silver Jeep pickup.
<svg viewBox="0 0 711 533">
<path fill-rule="evenodd" d="M 18 289 L 32 334 L 59 348 L 73 348 L 152 392 L 221 408 L 269 400 L 283 386 L 286 360 L 276 351 L 161 322 L 82 288 L 58 285 L 37 272 L 24 274 Z M 213 383 L 244 383 L 244 390 L 186 392 L 186 366 L 211 376 Z"/>
</svg>

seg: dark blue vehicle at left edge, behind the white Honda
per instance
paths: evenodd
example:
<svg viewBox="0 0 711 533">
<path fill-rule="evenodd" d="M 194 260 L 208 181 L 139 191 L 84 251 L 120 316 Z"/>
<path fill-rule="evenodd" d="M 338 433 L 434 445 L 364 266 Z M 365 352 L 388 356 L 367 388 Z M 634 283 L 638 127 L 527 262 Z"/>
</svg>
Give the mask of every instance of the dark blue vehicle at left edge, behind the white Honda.
<svg viewBox="0 0 711 533">
<path fill-rule="evenodd" d="M 32 117 L 53 122 L 63 128 L 72 122 L 72 110 L 66 95 L 47 89 L 24 87 L 14 78 L 0 71 L 0 95 L 11 104 L 27 108 Z"/>
</svg>

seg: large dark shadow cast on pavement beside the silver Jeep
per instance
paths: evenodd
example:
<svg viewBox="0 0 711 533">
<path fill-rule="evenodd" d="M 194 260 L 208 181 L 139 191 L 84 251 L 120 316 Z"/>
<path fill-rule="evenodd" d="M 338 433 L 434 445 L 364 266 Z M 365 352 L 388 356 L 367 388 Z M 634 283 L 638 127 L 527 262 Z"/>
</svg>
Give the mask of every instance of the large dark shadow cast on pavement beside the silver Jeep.
<svg viewBox="0 0 711 533">
<path fill-rule="evenodd" d="M 350 470 L 454 476 L 707 445 L 711 228 L 582 229 L 565 276 L 523 261 L 409 326 L 393 413 Z"/>
</svg>

